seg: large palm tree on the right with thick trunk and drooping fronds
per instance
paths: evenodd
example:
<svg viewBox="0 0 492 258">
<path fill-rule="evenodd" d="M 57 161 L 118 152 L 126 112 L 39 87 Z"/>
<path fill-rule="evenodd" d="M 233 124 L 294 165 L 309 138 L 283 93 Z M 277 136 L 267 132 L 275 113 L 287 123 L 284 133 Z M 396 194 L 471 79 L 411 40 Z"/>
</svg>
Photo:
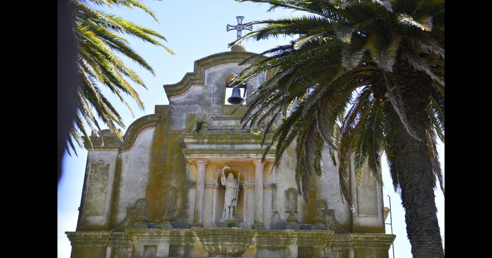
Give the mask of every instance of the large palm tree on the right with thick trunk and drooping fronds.
<svg viewBox="0 0 492 258">
<path fill-rule="evenodd" d="M 438 181 L 444 194 L 436 150 L 437 138 L 444 143 L 444 1 L 249 1 L 302 12 L 252 22 L 264 26 L 231 43 L 297 38 L 245 60 L 270 55 L 238 75 L 237 82 L 271 75 L 252 94 L 243 118 L 251 124 L 270 119 L 268 132 L 283 116 L 265 155 L 276 147 L 278 165 L 296 140 L 295 178 L 307 201 L 327 144 L 353 210 L 349 164 L 357 183 L 368 166 L 382 184 L 384 150 L 413 257 L 444 257 L 433 191 Z"/>
</svg>

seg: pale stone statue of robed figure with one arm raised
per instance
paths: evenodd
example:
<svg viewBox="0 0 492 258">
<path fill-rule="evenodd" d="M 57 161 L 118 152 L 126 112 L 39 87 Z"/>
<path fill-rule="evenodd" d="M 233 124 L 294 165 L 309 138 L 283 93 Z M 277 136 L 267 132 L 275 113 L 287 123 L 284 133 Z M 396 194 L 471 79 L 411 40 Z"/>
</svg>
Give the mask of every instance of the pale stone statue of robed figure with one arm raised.
<svg viewBox="0 0 492 258">
<path fill-rule="evenodd" d="M 234 174 L 227 174 L 227 178 L 225 177 L 224 171 L 226 169 L 230 169 L 230 167 L 225 166 L 222 168 L 222 174 L 220 177 L 220 181 L 222 185 L 225 186 L 225 196 L 224 196 L 224 210 L 222 213 L 222 220 L 232 220 L 236 215 L 236 207 L 238 205 L 238 196 L 239 196 L 239 183 L 240 183 L 240 174 L 238 174 L 238 179 L 234 179 Z"/>
</svg>

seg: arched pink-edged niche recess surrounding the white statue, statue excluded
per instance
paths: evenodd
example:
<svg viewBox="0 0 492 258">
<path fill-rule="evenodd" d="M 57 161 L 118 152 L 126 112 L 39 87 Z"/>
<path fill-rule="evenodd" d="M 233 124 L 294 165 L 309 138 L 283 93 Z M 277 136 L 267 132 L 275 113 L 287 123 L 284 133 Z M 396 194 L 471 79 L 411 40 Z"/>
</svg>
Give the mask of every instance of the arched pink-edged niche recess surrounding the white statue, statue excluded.
<svg viewBox="0 0 492 258">
<path fill-rule="evenodd" d="M 244 184 L 247 182 L 247 171 L 242 166 L 236 165 L 228 165 L 230 169 L 226 169 L 224 171 L 225 177 L 229 175 L 229 173 L 234 174 L 234 179 L 238 179 L 238 174 L 240 175 L 240 180 L 242 181 L 239 185 L 239 196 L 238 196 L 238 205 L 236 207 L 236 218 L 240 223 L 245 222 L 246 214 L 247 214 L 247 195 L 245 191 Z M 220 181 L 220 175 L 222 172 L 222 168 L 218 168 L 214 172 L 214 189 L 212 191 L 212 223 L 215 223 L 222 219 L 222 213 L 224 211 L 224 195 L 225 195 L 225 186 L 222 185 Z"/>
</svg>

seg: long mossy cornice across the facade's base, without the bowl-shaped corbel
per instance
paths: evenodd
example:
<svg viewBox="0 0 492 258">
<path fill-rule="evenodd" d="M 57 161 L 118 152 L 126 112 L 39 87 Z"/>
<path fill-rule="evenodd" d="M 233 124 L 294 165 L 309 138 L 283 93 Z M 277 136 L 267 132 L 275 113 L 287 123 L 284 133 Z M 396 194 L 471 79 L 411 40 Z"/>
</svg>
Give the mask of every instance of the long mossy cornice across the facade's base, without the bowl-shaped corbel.
<svg viewBox="0 0 492 258">
<path fill-rule="evenodd" d="M 247 241 L 255 246 L 329 246 L 346 249 L 388 250 L 396 235 L 373 233 L 336 234 L 333 230 L 277 230 L 277 229 L 124 229 L 122 233 L 108 231 L 65 232 L 72 246 L 106 245 L 108 241 L 118 244 L 179 244 L 194 245 L 207 242 L 207 238 Z M 205 238 L 204 238 L 205 237 Z M 244 239 L 243 239 L 244 238 Z M 116 244 L 116 243 L 115 243 Z M 206 243 L 205 243 L 206 244 Z"/>
</svg>

